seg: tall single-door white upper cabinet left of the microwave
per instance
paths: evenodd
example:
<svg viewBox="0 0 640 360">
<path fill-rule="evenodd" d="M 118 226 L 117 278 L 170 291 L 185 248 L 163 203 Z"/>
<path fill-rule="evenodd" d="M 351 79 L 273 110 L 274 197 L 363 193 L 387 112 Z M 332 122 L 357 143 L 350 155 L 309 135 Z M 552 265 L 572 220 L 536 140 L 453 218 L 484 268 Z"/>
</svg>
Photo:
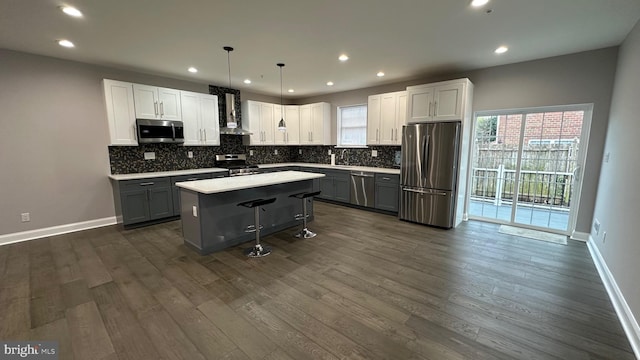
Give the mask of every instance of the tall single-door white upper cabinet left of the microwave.
<svg viewBox="0 0 640 360">
<path fill-rule="evenodd" d="M 138 145 L 133 84 L 104 79 L 109 145 Z"/>
</svg>

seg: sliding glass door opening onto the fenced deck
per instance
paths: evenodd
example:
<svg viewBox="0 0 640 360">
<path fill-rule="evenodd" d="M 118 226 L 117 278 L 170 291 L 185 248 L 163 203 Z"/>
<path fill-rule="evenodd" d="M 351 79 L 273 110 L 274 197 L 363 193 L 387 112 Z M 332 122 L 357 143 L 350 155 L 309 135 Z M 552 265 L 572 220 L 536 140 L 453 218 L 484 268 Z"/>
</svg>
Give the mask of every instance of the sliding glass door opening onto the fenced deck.
<svg viewBox="0 0 640 360">
<path fill-rule="evenodd" d="M 469 217 L 569 235 L 590 121 L 591 105 L 476 114 Z"/>
</svg>

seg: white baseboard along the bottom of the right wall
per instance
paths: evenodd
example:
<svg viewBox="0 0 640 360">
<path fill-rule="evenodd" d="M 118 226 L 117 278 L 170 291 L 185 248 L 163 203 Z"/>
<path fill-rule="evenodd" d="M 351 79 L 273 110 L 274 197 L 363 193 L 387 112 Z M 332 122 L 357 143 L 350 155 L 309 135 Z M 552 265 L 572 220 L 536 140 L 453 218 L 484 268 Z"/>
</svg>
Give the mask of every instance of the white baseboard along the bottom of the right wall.
<svg viewBox="0 0 640 360">
<path fill-rule="evenodd" d="M 591 258 L 598 269 L 600 278 L 607 289 L 607 293 L 609 293 L 609 298 L 611 298 L 613 307 L 616 309 L 616 313 L 620 318 L 622 328 L 627 334 L 627 338 L 629 338 L 631 348 L 633 348 L 636 358 L 640 359 L 640 326 L 638 326 L 638 322 L 636 321 L 635 316 L 633 316 L 627 301 L 624 299 L 624 295 L 620 291 L 613 274 L 609 271 L 609 267 L 607 267 L 607 264 L 602 258 L 602 254 L 600 254 L 600 250 L 598 250 L 593 237 L 590 235 L 587 247 L 591 253 Z"/>
</svg>

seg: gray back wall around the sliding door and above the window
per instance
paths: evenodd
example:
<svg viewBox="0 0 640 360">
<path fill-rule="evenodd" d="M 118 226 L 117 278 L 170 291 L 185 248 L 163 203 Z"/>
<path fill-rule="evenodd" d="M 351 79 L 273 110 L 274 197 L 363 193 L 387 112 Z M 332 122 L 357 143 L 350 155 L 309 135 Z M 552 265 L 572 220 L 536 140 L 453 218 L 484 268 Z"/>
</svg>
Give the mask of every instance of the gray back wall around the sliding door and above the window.
<svg viewBox="0 0 640 360">
<path fill-rule="evenodd" d="M 474 84 L 473 111 L 593 103 L 587 165 L 576 224 L 576 231 L 588 233 L 598 187 L 617 53 L 618 48 L 612 47 L 297 101 L 300 104 L 330 102 L 335 124 L 337 106 L 364 104 L 371 94 L 404 90 L 410 85 L 467 77 Z"/>
</svg>

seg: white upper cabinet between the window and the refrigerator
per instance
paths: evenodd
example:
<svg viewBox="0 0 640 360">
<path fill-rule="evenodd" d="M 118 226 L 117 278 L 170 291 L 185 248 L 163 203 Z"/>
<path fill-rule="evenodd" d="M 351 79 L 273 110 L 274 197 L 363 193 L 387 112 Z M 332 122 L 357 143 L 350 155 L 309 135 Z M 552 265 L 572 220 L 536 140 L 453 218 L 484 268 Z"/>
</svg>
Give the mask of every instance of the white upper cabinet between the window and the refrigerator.
<svg viewBox="0 0 640 360">
<path fill-rule="evenodd" d="M 405 124 L 407 92 L 369 96 L 367 105 L 367 144 L 400 145 Z"/>
</svg>

